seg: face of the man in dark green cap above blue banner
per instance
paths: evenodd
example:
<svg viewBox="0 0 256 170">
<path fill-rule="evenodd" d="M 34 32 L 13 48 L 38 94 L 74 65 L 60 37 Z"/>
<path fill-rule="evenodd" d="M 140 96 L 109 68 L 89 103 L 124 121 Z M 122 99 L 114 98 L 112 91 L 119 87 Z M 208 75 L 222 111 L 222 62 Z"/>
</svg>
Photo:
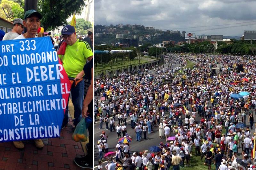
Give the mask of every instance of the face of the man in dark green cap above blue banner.
<svg viewBox="0 0 256 170">
<path fill-rule="evenodd" d="M 32 15 L 27 18 L 26 21 L 23 21 L 24 26 L 27 28 L 28 34 L 35 34 L 37 33 L 38 28 L 40 27 L 40 20 L 37 16 Z"/>
</svg>

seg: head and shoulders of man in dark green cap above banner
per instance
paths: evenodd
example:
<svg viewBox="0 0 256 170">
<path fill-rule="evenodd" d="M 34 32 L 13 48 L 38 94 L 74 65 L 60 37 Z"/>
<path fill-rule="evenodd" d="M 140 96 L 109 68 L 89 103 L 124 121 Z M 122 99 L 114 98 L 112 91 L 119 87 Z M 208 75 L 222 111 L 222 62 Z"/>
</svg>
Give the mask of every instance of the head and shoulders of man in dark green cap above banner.
<svg viewBox="0 0 256 170">
<path fill-rule="evenodd" d="M 40 27 L 40 19 L 42 19 L 42 15 L 36 10 L 28 10 L 24 14 L 23 25 L 27 28 L 27 32 L 21 34 L 16 39 L 24 39 L 24 38 L 35 38 L 37 29 Z"/>
</svg>

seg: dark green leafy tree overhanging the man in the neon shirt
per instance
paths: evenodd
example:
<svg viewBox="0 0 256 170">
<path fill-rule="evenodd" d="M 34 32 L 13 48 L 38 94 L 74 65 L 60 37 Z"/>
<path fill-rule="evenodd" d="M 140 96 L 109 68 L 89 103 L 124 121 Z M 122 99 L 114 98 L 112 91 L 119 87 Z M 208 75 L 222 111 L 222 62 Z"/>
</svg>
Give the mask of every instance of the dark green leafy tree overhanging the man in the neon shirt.
<svg viewBox="0 0 256 170">
<path fill-rule="evenodd" d="M 42 14 L 41 26 L 45 31 L 67 24 L 66 19 L 75 11 L 81 14 L 84 0 L 38 0 L 38 11 Z"/>
</svg>

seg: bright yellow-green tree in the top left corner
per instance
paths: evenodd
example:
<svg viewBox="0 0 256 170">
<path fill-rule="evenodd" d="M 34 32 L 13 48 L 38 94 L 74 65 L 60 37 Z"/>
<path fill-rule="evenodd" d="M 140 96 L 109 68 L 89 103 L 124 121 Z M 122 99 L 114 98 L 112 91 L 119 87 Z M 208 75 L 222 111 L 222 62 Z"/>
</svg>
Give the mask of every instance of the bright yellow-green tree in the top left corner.
<svg viewBox="0 0 256 170">
<path fill-rule="evenodd" d="M 4 10 L 2 10 L 2 8 L 4 8 Z M 4 11 L 6 12 L 8 17 L 4 13 Z M 2 0 L 2 3 L 0 3 L 0 17 L 9 21 L 15 18 L 23 18 L 24 9 L 17 2 Z"/>
</svg>

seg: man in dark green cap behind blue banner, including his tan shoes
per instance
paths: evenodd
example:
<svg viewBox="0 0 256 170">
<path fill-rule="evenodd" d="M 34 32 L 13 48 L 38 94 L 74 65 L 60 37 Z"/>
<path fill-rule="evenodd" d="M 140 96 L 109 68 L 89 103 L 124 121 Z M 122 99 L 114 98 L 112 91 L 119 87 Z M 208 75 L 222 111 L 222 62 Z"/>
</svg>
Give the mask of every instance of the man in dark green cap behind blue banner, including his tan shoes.
<svg viewBox="0 0 256 170">
<path fill-rule="evenodd" d="M 42 15 L 39 12 L 36 12 L 36 10 L 26 11 L 24 14 L 23 25 L 25 28 L 27 28 L 27 32 L 16 37 L 14 40 L 35 38 L 37 29 L 40 27 L 40 19 L 42 19 Z M 44 144 L 41 139 L 35 139 L 34 142 L 37 148 L 44 147 Z M 18 149 L 24 148 L 24 144 L 22 141 L 14 141 L 13 144 Z"/>
</svg>

